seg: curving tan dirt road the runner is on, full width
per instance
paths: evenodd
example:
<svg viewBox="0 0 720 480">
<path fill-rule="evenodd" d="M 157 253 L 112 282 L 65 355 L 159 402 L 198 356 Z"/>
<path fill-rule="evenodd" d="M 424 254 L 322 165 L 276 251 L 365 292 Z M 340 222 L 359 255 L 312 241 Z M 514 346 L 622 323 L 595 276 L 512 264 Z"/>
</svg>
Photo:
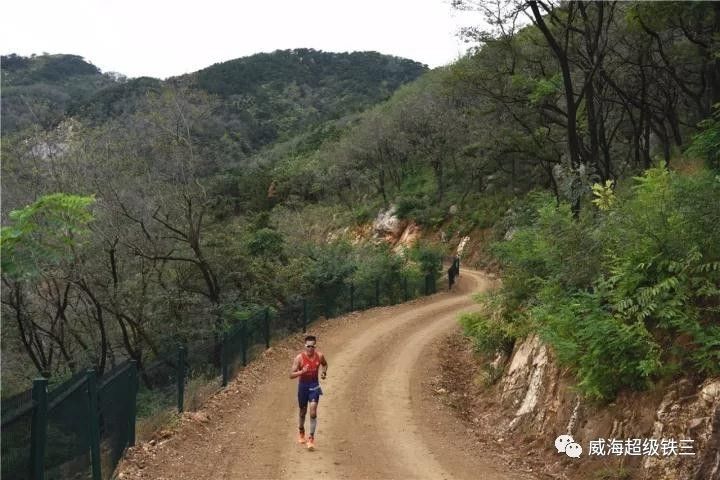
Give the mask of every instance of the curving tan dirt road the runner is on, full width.
<svg viewBox="0 0 720 480">
<path fill-rule="evenodd" d="M 187 426 L 124 478 L 532 478 L 472 444 L 427 384 L 439 373 L 433 345 L 477 308 L 470 294 L 488 285 L 463 270 L 452 293 L 313 326 L 329 362 L 314 452 L 295 442 L 297 381 L 287 373 L 302 345 L 296 338 L 265 359 L 251 394 L 226 393 L 217 412 L 210 406 L 212 420 Z"/>
</svg>

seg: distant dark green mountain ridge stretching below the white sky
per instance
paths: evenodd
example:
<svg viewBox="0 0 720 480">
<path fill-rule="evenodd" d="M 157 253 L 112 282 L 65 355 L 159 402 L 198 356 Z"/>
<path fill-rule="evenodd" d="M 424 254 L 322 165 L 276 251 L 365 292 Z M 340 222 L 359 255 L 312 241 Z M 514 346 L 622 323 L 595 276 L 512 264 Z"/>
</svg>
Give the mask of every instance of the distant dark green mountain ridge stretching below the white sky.
<svg viewBox="0 0 720 480">
<path fill-rule="evenodd" d="M 203 143 L 230 142 L 242 156 L 276 140 L 362 111 L 427 67 L 377 52 L 312 49 L 261 53 L 161 81 L 118 79 L 74 55 L 3 57 L 3 133 L 49 129 L 73 116 L 101 125 L 147 108 L 163 89 L 206 96 L 212 126 Z"/>
</svg>

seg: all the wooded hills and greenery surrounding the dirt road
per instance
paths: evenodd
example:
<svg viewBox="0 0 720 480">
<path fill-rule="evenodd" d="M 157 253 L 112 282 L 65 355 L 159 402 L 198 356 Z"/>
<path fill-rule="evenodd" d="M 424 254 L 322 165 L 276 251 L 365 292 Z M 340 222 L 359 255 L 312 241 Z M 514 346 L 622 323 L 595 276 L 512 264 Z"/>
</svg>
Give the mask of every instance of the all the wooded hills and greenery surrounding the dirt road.
<svg viewBox="0 0 720 480">
<path fill-rule="evenodd" d="M 394 206 L 441 248 L 495 241 L 480 266 L 507 280 L 465 320 L 480 350 L 540 332 L 600 399 L 717 373 L 719 4 L 500 6 L 493 31 L 465 32 L 473 52 L 422 76 L 293 50 L 165 82 L 94 74 L 110 83 L 53 121 L 16 113 L 3 355 L 55 375 L 152 357 L 237 312 L 412 268 L 351 244 Z"/>
</svg>

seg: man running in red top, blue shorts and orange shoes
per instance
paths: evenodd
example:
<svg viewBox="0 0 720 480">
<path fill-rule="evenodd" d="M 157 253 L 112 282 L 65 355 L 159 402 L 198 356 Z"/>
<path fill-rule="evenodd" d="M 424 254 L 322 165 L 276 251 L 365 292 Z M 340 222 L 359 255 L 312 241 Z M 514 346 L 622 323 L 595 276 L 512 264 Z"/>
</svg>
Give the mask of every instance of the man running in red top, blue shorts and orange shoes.
<svg viewBox="0 0 720 480">
<path fill-rule="evenodd" d="M 307 438 L 308 450 L 315 449 L 315 429 L 317 428 L 317 404 L 320 401 L 322 390 L 318 381 L 318 369 L 322 365 L 320 378 L 327 376 L 327 360 L 325 356 L 315 349 L 316 338 L 313 335 L 305 337 L 305 351 L 299 353 L 290 369 L 290 378 L 299 378 L 298 406 L 300 407 L 300 423 L 298 426 L 298 443 L 305 443 L 305 414 L 308 402 L 310 403 L 310 435 Z"/>
</svg>

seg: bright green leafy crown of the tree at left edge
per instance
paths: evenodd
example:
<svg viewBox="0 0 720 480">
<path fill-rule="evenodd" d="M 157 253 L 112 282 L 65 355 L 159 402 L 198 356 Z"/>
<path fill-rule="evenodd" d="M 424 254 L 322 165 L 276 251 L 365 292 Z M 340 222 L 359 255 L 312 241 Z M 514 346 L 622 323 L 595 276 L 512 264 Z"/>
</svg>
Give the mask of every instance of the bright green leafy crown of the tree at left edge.
<svg viewBox="0 0 720 480">
<path fill-rule="evenodd" d="M 93 197 L 45 195 L 10 212 L 12 225 L 0 230 L 3 274 L 23 278 L 59 265 L 75 254 L 93 219 Z"/>
</svg>

